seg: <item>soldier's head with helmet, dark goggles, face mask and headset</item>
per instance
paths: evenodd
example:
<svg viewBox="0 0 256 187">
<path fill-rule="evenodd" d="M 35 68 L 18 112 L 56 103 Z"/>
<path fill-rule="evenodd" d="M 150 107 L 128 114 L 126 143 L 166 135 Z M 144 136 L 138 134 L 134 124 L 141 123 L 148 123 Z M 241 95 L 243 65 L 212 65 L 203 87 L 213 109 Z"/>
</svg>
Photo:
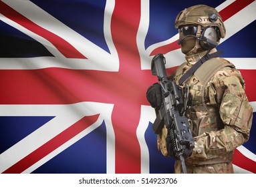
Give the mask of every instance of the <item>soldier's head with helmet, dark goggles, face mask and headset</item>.
<svg viewBox="0 0 256 187">
<path fill-rule="evenodd" d="M 195 5 L 178 13 L 175 20 L 181 51 L 186 55 L 215 48 L 226 35 L 221 15 L 213 7 Z"/>
</svg>

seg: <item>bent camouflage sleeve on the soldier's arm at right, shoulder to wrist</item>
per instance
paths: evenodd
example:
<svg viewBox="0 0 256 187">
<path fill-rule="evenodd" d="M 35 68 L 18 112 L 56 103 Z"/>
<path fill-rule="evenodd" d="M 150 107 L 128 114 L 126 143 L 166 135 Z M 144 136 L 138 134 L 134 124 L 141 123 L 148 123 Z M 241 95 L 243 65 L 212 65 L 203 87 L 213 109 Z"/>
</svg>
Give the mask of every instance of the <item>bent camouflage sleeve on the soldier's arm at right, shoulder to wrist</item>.
<svg viewBox="0 0 256 187">
<path fill-rule="evenodd" d="M 190 156 L 216 158 L 227 154 L 249 139 L 253 110 L 245 95 L 245 82 L 235 68 L 218 71 L 211 82 L 211 93 L 219 107 L 223 129 L 205 132 L 195 137 L 195 148 Z"/>
</svg>

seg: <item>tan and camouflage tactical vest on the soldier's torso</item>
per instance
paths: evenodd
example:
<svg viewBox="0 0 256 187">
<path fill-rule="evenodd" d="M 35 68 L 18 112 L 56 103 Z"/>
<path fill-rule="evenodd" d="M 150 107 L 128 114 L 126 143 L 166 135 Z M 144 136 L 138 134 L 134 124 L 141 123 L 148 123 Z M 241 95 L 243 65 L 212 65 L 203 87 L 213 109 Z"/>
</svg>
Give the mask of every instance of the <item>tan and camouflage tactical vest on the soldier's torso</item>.
<svg viewBox="0 0 256 187">
<path fill-rule="evenodd" d="M 176 75 L 182 73 L 180 65 L 176 70 Z M 214 93 L 211 91 L 206 94 L 207 87 L 211 87 L 211 79 L 217 71 L 224 67 L 235 67 L 229 61 L 218 58 L 212 58 L 203 63 L 195 73 L 187 79 L 185 83 L 189 85 L 188 108 L 186 117 L 193 122 L 193 136 L 199 136 L 204 132 L 215 131 L 223 128 L 223 122 L 219 117 L 219 106 L 215 102 Z M 183 86 L 184 84 L 183 83 Z"/>
</svg>

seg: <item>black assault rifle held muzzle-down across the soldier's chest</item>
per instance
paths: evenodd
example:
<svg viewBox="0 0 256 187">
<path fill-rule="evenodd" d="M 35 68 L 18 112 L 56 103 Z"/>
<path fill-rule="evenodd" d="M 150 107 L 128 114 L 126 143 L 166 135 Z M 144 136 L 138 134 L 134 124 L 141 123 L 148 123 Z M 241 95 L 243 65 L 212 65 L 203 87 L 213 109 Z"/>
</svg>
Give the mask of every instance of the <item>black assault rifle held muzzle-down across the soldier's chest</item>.
<svg viewBox="0 0 256 187">
<path fill-rule="evenodd" d="M 168 130 L 166 143 L 170 157 L 180 160 L 182 172 L 185 174 L 184 158 L 190 156 L 195 147 L 188 119 L 180 115 L 184 102 L 182 90 L 166 75 L 164 55 L 155 55 L 151 63 L 152 75 L 158 77 L 162 91 L 162 104 L 156 109 L 156 120 L 152 126 L 155 134 L 160 134 L 163 126 Z"/>
</svg>

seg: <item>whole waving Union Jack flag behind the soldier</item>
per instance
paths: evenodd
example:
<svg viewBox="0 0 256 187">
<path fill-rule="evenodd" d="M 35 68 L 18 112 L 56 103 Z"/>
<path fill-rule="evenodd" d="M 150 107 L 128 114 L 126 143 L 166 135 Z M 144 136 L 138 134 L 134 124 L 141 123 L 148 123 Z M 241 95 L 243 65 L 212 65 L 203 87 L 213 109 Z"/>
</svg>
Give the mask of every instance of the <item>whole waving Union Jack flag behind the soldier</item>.
<svg viewBox="0 0 256 187">
<path fill-rule="evenodd" d="M 217 47 L 241 71 L 256 112 L 256 1 L 211 1 L 227 36 Z M 146 89 L 150 62 L 184 61 L 174 20 L 205 1 L 0 1 L 1 173 L 172 173 L 156 149 Z M 235 172 L 256 172 L 251 137 Z"/>
</svg>

